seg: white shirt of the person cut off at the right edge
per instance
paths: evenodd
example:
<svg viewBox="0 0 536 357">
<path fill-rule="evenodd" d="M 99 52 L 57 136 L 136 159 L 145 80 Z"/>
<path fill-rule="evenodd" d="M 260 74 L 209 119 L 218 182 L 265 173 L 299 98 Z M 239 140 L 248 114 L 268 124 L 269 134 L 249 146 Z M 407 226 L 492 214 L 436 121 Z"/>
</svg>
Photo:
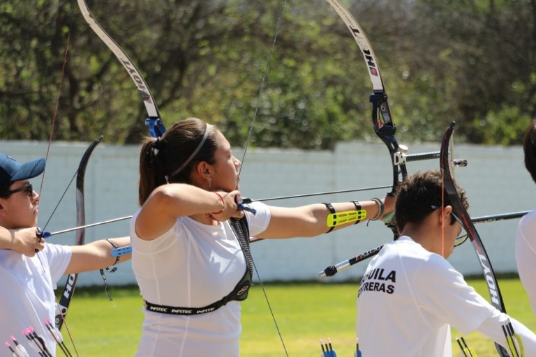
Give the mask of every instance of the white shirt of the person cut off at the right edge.
<svg viewBox="0 0 536 357">
<path fill-rule="evenodd" d="M 523 216 L 516 231 L 516 264 L 533 314 L 536 314 L 536 211 Z"/>
</svg>

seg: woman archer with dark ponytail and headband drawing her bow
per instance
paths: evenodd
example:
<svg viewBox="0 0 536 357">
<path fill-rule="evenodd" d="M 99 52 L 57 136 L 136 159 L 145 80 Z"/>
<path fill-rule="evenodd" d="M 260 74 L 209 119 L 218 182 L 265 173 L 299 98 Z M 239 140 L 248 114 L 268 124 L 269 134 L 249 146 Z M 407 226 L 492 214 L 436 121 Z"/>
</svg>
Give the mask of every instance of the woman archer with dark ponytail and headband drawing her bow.
<svg viewBox="0 0 536 357">
<path fill-rule="evenodd" d="M 318 236 L 394 208 L 392 197 L 241 205 L 240 166 L 221 131 L 200 119 L 179 121 L 142 144 L 141 208 L 131 221 L 133 271 L 145 307 L 136 356 L 239 356 L 239 301 L 251 285 L 249 234 Z M 350 211 L 350 222 L 327 226 L 332 213 Z"/>
</svg>

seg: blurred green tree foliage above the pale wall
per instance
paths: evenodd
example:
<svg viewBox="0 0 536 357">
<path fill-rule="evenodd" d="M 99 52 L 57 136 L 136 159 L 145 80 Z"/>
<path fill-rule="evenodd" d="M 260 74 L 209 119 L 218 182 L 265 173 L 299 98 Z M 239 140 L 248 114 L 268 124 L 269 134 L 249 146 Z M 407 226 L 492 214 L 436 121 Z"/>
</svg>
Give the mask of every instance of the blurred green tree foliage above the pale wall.
<svg viewBox="0 0 536 357">
<path fill-rule="evenodd" d="M 243 145 L 329 149 L 371 139 L 362 55 L 320 0 L 87 1 L 140 68 L 167 125 L 216 123 Z M 346 5 L 373 45 L 399 139 L 437 141 L 447 123 L 471 143 L 519 144 L 536 116 L 536 3 L 361 0 Z M 0 3 L 0 135 L 139 142 L 144 107 L 75 1 Z M 65 76 L 62 59 L 69 41 Z"/>
</svg>

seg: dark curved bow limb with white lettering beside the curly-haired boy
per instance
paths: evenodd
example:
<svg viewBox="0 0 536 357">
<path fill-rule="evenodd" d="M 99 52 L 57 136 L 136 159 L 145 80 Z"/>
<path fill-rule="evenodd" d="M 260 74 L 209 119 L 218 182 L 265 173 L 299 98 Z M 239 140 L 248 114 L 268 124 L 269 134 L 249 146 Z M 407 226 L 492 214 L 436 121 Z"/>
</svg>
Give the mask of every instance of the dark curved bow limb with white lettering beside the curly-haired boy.
<svg viewBox="0 0 536 357">
<path fill-rule="evenodd" d="M 458 215 L 463 225 L 463 228 L 466 230 L 469 235 L 472 247 L 475 248 L 477 253 L 478 261 L 482 267 L 482 272 L 484 273 L 484 278 L 486 278 L 486 284 L 489 291 L 489 296 L 491 298 L 491 305 L 496 307 L 501 312 L 506 312 L 505 303 L 502 301 L 502 295 L 500 294 L 499 284 L 491 266 L 491 261 L 489 260 L 488 254 L 484 249 L 484 243 L 480 239 L 480 236 L 473 225 L 469 213 L 466 210 L 466 207 L 463 206 L 461 198 L 458 191 L 456 190 L 456 185 L 452 179 L 452 134 L 454 133 L 454 122 L 452 122 L 445 132 L 445 137 L 441 144 L 441 157 L 440 157 L 440 169 L 443 179 L 443 190 L 444 194 L 449 198 L 450 204 L 452 204 L 452 211 Z M 509 356 L 508 352 L 500 344 L 496 343 L 495 347 L 498 351 L 499 356 Z"/>
</svg>

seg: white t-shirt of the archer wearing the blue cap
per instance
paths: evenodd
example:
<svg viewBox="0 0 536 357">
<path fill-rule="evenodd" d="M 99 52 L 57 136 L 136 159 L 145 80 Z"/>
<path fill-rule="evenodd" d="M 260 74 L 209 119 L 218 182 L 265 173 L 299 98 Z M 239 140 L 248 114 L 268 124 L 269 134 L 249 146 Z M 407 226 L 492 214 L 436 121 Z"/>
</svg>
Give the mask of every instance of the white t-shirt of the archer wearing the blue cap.
<svg viewBox="0 0 536 357">
<path fill-rule="evenodd" d="M 43 324 L 50 319 L 54 324 L 56 298 L 54 289 L 69 264 L 71 249 L 66 245 L 46 243 L 34 257 L 26 257 L 13 250 L 0 250 L 0 339 L 10 335 L 27 349 L 30 356 L 38 356 L 22 331 L 33 327 L 45 338 L 47 348 L 56 355 L 56 342 Z M 6 351 L 8 349 L 3 347 Z"/>
</svg>

